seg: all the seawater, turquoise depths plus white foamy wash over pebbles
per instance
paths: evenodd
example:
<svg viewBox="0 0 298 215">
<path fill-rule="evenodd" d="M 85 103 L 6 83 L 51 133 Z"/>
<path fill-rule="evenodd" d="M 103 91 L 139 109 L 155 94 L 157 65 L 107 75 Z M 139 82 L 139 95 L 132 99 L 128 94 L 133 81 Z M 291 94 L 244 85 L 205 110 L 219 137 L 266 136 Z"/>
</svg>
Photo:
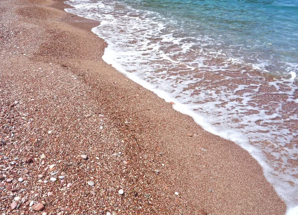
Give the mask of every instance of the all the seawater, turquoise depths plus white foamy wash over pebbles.
<svg viewBox="0 0 298 215">
<path fill-rule="evenodd" d="M 103 60 L 245 148 L 298 215 L 297 0 L 69 0 Z"/>
</svg>

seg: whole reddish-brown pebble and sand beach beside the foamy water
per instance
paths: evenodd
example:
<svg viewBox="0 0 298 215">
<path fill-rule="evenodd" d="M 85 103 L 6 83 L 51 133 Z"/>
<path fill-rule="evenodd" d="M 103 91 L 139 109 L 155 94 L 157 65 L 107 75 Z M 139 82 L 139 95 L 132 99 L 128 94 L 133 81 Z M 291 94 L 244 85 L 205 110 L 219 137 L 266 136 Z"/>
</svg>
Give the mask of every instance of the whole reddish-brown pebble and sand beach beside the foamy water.
<svg viewBox="0 0 298 215">
<path fill-rule="evenodd" d="M 1 214 L 286 213 L 247 151 L 107 65 L 68 7 L 0 2 Z"/>
</svg>

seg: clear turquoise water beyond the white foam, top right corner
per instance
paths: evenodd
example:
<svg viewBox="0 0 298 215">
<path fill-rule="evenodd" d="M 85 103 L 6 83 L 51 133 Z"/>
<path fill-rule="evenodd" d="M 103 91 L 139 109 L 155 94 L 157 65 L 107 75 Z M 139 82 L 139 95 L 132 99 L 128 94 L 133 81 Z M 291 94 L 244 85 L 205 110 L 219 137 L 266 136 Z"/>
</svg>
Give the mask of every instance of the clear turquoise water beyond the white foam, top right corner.
<svg viewBox="0 0 298 215">
<path fill-rule="evenodd" d="M 207 36 L 228 57 L 272 73 L 298 73 L 297 0 L 122 0 L 174 20 L 181 33 Z"/>
</svg>

